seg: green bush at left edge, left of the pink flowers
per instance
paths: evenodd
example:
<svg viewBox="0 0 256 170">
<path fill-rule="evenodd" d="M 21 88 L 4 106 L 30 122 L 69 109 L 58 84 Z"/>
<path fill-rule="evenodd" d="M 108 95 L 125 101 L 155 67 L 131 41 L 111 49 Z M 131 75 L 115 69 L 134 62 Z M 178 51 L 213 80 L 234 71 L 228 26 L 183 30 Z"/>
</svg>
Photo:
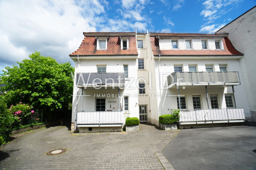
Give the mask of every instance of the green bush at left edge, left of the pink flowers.
<svg viewBox="0 0 256 170">
<path fill-rule="evenodd" d="M 13 116 L 7 109 L 7 105 L 4 100 L 4 95 L 0 96 L 0 136 L 4 141 L 8 141 L 11 131 L 15 124 L 18 122 L 18 118 Z"/>
</svg>

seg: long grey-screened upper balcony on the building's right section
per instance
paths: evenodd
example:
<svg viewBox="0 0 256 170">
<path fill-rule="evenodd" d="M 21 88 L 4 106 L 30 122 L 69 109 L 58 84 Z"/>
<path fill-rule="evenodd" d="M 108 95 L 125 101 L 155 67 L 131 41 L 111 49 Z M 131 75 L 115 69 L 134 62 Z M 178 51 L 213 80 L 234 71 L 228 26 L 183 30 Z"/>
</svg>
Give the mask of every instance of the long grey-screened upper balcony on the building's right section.
<svg viewBox="0 0 256 170">
<path fill-rule="evenodd" d="M 179 86 L 219 85 L 228 87 L 240 85 L 237 71 L 230 72 L 174 72 L 167 76 L 168 88 Z"/>
</svg>

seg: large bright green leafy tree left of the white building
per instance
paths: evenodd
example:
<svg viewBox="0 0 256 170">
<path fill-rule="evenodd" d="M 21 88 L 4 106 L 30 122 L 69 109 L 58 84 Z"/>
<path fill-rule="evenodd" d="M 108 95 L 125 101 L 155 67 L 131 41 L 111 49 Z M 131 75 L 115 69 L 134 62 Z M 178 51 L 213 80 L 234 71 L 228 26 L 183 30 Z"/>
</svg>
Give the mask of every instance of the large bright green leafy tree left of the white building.
<svg viewBox="0 0 256 170">
<path fill-rule="evenodd" d="M 69 62 L 59 64 L 37 51 L 29 58 L 17 62 L 17 66 L 5 67 L 0 75 L 1 84 L 6 84 L 2 90 L 8 91 L 7 105 L 22 101 L 44 114 L 67 109 L 72 101 L 74 67 Z"/>
</svg>

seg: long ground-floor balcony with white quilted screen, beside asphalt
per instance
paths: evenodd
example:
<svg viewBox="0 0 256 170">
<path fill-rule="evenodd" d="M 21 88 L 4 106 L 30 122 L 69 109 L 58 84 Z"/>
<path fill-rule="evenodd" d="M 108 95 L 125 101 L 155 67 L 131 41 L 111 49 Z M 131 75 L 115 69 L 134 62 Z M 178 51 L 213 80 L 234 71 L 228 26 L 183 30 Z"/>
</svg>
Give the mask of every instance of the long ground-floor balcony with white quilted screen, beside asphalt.
<svg viewBox="0 0 256 170">
<path fill-rule="evenodd" d="M 243 108 L 181 109 L 179 124 L 244 122 Z"/>
</svg>

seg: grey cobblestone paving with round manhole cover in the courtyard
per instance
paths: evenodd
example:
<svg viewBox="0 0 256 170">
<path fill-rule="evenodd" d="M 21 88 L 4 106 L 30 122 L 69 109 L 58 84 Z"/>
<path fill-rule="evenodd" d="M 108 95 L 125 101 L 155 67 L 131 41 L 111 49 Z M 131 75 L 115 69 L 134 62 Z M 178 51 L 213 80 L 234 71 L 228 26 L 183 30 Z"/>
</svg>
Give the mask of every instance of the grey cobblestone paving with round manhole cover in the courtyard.
<svg viewBox="0 0 256 170">
<path fill-rule="evenodd" d="M 140 124 L 139 132 L 73 133 L 66 126 L 37 129 L 0 150 L 0 169 L 164 169 L 161 152 L 178 131 Z M 66 152 L 48 156 L 57 148 Z"/>
</svg>

